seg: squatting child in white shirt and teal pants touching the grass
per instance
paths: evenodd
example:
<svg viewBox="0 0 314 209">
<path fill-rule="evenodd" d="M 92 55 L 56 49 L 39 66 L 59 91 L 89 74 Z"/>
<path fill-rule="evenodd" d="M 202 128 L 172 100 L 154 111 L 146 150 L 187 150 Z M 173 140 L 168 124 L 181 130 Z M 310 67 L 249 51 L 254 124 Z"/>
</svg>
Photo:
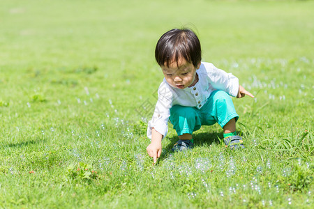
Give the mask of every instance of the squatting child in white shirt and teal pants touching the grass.
<svg viewBox="0 0 314 209">
<path fill-rule="evenodd" d="M 223 127 L 226 145 L 244 148 L 236 133 L 239 116 L 230 95 L 254 96 L 239 86 L 239 80 L 231 73 L 201 62 L 200 40 L 195 33 L 190 29 L 167 31 L 157 42 L 155 58 L 165 78 L 158 88 L 158 101 L 147 127 L 151 139 L 147 153 L 154 157 L 154 163 L 161 154 L 168 119 L 179 136 L 174 150 L 192 148 L 192 133 L 201 125 L 215 123 Z"/>
</svg>

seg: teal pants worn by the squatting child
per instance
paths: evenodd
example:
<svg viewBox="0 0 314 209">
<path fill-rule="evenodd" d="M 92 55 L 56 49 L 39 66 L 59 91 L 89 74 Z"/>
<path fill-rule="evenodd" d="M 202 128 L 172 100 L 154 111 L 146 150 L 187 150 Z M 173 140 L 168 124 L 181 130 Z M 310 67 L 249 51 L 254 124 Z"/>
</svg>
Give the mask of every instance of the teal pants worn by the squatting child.
<svg viewBox="0 0 314 209">
<path fill-rule="evenodd" d="M 170 109 L 170 122 L 178 136 L 192 134 L 202 125 L 218 123 L 224 127 L 232 118 L 237 121 L 239 116 L 234 109 L 230 95 L 225 91 L 213 91 L 201 109 L 174 105 Z"/>
</svg>

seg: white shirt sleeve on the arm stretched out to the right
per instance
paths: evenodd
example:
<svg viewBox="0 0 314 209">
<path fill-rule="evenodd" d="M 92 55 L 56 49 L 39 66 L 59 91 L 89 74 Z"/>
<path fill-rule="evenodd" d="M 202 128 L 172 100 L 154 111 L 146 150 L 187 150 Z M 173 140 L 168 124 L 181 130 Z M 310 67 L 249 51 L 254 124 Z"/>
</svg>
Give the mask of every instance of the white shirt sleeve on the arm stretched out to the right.
<svg viewBox="0 0 314 209">
<path fill-rule="evenodd" d="M 213 88 L 223 90 L 229 95 L 235 97 L 239 92 L 239 79 L 227 73 L 224 70 L 216 68 L 213 64 L 209 63 L 210 70 L 207 70 L 209 83 Z"/>
</svg>

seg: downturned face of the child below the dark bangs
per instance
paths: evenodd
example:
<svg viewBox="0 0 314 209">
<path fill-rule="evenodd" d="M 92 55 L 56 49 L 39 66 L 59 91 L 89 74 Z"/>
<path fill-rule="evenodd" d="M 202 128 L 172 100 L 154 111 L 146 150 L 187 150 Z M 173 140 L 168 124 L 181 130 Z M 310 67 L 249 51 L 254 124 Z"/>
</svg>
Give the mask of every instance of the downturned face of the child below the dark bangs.
<svg viewBox="0 0 314 209">
<path fill-rule="evenodd" d="M 170 63 L 169 68 L 167 65 L 161 66 L 167 83 L 179 89 L 194 86 L 197 83 L 195 75 L 198 68 L 200 68 L 200 63 L 195 67 L 193 63 L 188 63 L 183 58 L 178 60 L 178 65 L 176 61 L 173 61 Z"/>
</svg>

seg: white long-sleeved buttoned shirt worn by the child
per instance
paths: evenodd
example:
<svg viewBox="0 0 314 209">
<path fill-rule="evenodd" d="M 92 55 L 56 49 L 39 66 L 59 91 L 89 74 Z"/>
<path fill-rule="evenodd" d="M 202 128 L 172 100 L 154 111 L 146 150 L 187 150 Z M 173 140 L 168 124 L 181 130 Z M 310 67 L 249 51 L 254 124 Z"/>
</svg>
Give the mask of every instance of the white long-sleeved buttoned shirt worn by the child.
<svg viewBox="0 0 314 209">
<path fill-rule="evenodd" d="M 184 89 L 174 88 L 163 79 L 158 88 L 158 101 L 154 115 L 147 127 L 147 137 L 149 139 L 151 139 L 151 129 L 153 127 L 163 135 L 163 138 L 167 135 L 167 123 L 170 108 L 173 105 L 179 104 L 200 109 L 207 102 L 211 92 L 215 90 L 225 91 L 234 97 L 239 91 L 239 79 L 231 73 L 216 68 L 212 63 L 202 62 L 196 73 L 198 82 L 194 86 Z"/>
</svg>

